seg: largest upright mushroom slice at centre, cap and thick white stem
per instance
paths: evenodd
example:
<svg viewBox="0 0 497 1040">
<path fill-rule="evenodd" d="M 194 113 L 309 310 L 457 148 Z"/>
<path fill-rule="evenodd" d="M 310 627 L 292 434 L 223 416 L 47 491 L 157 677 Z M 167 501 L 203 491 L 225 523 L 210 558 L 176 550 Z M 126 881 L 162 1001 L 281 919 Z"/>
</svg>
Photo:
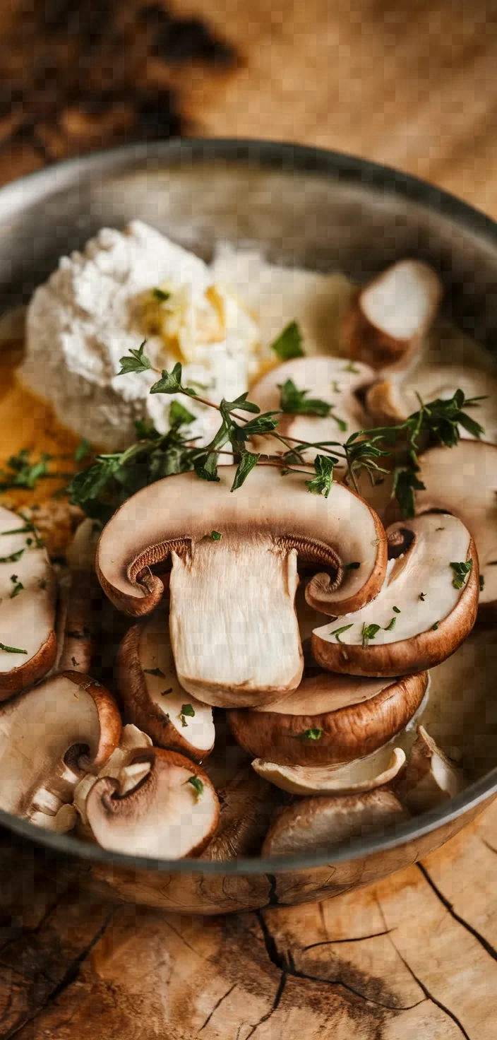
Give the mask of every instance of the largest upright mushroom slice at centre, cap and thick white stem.
<svg viewBox="0 0 497 1040">
<path fill-rule="evenodd" d="M 307 588 L 308 601 L 325 614 L 375 596 L 387 555 L 378 518 L 343 485 L 333 484 L 324 498 L 310 494 L 299 473 L 281 479 L 258 466 L 243 491 L 231 494 L 234 473 L 224 466 L 218 483 L 202 485 L 202 509 L 192 473 L 143 488 L 108 522 L 97 557 L 109 599 L 138 616 L 160 601 L 163 583 L 151 568 L 171 555 L 179 682 L 221 707 L 263 704 L 300 681 L 297 554 L 332 572 Z M 357 561 L 360 568 L 347 566 Z"/>
</svg>

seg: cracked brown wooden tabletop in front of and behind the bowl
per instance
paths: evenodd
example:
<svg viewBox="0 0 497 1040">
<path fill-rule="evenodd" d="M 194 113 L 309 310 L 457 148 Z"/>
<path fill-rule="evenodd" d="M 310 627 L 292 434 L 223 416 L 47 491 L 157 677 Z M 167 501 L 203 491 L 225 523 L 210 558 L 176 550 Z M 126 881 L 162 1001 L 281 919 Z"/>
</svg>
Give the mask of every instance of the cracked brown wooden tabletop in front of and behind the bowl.
<svg viewBox="0 0 497 1040">
<path fill-rule="evenodd" d="M 142 136 L 143 97 L 160 88 L 165 105 L 173 87 L 173 127 L 179 112 L 200 134 L 365 155 L 497 214 L 497 14 L 488 2 L 177 2 L 177 14 L 208 9 L 235 45 L 229 71 L 164 62 L 151 49 L 157 12 L 146 30 L 137 4 L 101 6 L 105 28 L 84 23 L 84 46 L 64 30 L 63 3 L 61 29 L 53 2 L 51 25 L 32 4 L 2 10 L 1 64 L 18 94 L 3 116 L 0 106 L 0 181 Z M 88 106 L 93 93 L 99 103 Z M 202 919 L 102 905 L 76 876 L 58 877 L 43 853 L 3 835 L 0 1037 L 494 1040 L 496 855 L 497 805 L 371 888 Z"/>
</svg>

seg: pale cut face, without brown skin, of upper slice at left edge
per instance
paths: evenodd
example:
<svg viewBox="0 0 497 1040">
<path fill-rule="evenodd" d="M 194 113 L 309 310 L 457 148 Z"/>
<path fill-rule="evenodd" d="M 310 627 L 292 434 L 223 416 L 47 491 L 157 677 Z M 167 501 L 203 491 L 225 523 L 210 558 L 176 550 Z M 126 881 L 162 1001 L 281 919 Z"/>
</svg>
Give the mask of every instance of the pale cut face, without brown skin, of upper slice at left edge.
<svg viewBox="0 0 497 1040">
<path fill-rule="evenodd" d="M 7 534 L 11 530 L 19 534 Z M 54 573 L 47 550 L 36 542 L 21 516 L 0 508 L 0 644 L 25 651 L 0 645 L 0 672 L 25 665 L 54 629 Z"/>
</svg>

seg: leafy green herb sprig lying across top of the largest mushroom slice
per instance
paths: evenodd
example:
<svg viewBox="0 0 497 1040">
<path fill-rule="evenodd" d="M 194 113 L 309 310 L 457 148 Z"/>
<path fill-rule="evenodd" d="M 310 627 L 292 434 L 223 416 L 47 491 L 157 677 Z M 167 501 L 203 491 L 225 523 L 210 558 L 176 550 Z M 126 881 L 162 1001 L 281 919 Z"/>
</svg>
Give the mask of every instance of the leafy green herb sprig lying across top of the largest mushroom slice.
<svg viewBox="0 0 497 1040">
<path fill-rule="evenodd" d="M 240 488 L 258 465 L 273 466 L 282 476 L 304 473 L 308 477 L 308 490 L 324 497 L 331 492 L 337 466 L 344 469 L 341 477 L 355 491 L 359 491 L 363 472 L 374 486 L 393 470 L 392 495 L 403 517 L 409 518 L 414 516 L 414 493 L 423 489 L 418 475 L 420 451 L 430 443 L 447 447 L 457 444 L 461 426 L 477 438 L 483 433 L 482 426 L 465 411 L 477 407 L 482 398 L 466 399 L 463 390 L 456 390 L 447 400 L 438 398 L 425 405 L 419 398 L 419 410 L 395 426 L 358 431 L 345 441 L 299 441 L 279 433 L 277 427 L 282 412 L 291 408 L 293 399 L 297 414 L 306 414 L 309 406 L 309 414 L 320 412 L 323 415 L 328 410 L 325 402 L 308 398 L 306 391 L 286 384 L 286 395 L 279 411 L 261 413 L 259 407 L 247 399 L 246 393 L 235 400 L 223 399 L 216 404 L 201 396 L 193 387 L 183 385 L 180 362 L 171 372 L 154 368 L 145 354 L 145 346 L 146 342 L 121 359 L 119 374 L 157 373 L 159 379 L 151 386 L 151 393 L 184 395 L 215 409 L 219 413 L 219 426 L 209 444 L 195 444 L 189 428 L 194 416 L 175 399 L 169 410 L 171 428 L 166 434 L 140 421 L 135 424 L 138 438 L 135 444 L 124 451 L 98 454 L 90 466 L 72 478 L 68 492 L 74 504 L 103 522 L 130 495 L 163 476 L 194 470 L 201 479 L 218 482 L 220 454 L 228 454 L 237 463 L 232 491 Z M 273 454 L 256 452 L 247 446 L 254 436 L 261 435 L 273 439 Z M 315 451 L 312 462 L 307 457 L 310 449 Z M 389 468 L 384 465 L 387 459 Z"/>
</svg>

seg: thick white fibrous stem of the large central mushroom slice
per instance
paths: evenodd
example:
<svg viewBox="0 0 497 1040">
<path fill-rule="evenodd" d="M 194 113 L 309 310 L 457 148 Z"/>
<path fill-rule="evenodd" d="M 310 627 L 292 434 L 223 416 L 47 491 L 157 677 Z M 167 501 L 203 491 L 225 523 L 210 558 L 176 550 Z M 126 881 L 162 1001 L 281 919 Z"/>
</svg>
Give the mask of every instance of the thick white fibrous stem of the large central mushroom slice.
<svg viewBox="0 0 497 1040">
<path fill-rule="evenodd" d="M 172 555 L 169 631 L 181 686 L 240 707 L 267 699 L 268 690 L 295 688 L 303 669 L 296 551 L 245 529 Z"/>
</svg>

